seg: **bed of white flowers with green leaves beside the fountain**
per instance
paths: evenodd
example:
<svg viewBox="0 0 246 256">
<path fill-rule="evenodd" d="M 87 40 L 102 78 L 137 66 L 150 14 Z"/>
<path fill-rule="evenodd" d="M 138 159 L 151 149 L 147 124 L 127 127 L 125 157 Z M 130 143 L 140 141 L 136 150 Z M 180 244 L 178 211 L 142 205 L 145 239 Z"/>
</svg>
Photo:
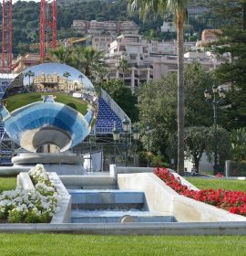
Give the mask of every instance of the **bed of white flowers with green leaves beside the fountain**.
<svg viewBox="0 0 246 256">
<path fill-rule="evenodd" d="M 43 165 L 36 165 L 28 172 L 35 189 L 15 190 L 0 195 L 0 218 L 11 223 L 48 223 L 56 212 L 58 193 Z"/>
</svg>

